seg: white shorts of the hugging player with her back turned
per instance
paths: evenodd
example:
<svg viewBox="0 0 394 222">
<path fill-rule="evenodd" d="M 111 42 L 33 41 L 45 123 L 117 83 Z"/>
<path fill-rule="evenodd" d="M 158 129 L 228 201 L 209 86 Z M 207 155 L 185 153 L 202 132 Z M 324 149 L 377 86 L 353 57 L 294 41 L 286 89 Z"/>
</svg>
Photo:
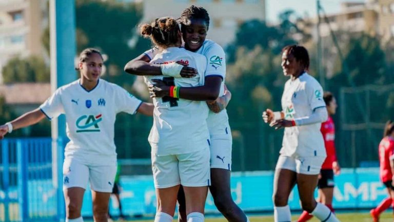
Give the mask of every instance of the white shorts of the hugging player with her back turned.
<svg viewBox="0 0 394 222">
<path fill-rule="evenodd" d="M 152 157 L 155 188 L 168 188 L 182 184 L 186 187 L 210 185 L 209 147 L 199 151 Z"/>
</svg>

